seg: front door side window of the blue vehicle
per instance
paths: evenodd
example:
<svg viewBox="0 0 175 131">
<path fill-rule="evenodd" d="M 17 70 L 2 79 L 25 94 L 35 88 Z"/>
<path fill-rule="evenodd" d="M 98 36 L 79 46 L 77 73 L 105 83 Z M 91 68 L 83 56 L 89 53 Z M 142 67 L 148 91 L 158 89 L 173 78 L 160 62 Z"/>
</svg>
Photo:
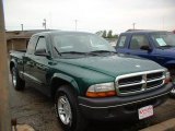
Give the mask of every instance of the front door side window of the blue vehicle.
<svg viewBox="0 0 175 131">
<path fill-rule="evenodd" d="M 143 47 L 150 47 L 148 38 L 144 35 L 133 35 L 129 48 L 142 49 Z"/>
</svg>

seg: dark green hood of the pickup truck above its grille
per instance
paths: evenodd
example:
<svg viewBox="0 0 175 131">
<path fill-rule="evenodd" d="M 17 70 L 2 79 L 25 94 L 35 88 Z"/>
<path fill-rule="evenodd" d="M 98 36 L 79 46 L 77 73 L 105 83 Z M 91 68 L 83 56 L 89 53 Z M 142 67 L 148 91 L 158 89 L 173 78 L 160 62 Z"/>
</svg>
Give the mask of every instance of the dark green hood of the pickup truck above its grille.
<svg viewBox="0 0 175 131">
<path fill-rule="evenodd" d="M 59 62 L 80 67 L 85 70 L 93 70 L 114 78 L 120 74 L 163 69 L 163 67 L 153 61 L 137 57 L 126 57 L 124 55 L 58 60 Z"/>
</svg>

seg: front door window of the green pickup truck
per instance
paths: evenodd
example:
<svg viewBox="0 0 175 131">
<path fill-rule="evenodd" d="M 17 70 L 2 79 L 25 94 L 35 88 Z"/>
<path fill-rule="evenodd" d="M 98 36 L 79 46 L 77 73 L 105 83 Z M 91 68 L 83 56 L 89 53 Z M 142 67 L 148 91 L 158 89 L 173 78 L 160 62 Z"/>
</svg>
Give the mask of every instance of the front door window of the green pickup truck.
<svg viewBox="0 0 175 131">
<path fill-rule="evenodd" d="M 45 37 L 39 37 L 36 48 L 35 48 L 35 53 L 46 53 L 47 48 L 46 48 L 46 38 Z"/>
</svg>

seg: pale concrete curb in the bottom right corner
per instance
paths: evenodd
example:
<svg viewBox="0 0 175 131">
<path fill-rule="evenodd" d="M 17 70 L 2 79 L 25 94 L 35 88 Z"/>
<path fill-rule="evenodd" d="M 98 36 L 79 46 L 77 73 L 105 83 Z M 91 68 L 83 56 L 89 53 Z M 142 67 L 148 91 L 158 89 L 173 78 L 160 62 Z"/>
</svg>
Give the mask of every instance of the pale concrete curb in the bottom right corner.
<svg viewBox="0 0 175 131">
<path fill-rule="evenodd" d="M 139 131 L 175 131 L 175 118 L 151 126 Z"/>
</svg>

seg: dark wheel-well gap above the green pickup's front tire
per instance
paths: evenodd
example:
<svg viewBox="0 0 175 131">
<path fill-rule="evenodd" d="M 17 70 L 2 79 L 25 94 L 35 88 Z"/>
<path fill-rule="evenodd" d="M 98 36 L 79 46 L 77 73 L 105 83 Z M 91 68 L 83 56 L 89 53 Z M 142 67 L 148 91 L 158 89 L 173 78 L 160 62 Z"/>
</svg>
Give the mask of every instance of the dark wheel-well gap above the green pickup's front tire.
<svg viewBox="0 0 175 131">
<path fill-rule="evenodd" d="M 62 80 L 62 79 L 59 79 L 59 78 L 55 78 L 52 81 L 51 81 L 51 98 L 54 99 L 55 98 L 55 94 L 57 92 L 57 90 L 61 86 L 61 85 L 69 85 L 72 87 L 72 85 Z M 72 87 L 71 90 L 73 90 L 73 92 L 75 93 L 75 90 L 74 87 Z"/>
</svg>

